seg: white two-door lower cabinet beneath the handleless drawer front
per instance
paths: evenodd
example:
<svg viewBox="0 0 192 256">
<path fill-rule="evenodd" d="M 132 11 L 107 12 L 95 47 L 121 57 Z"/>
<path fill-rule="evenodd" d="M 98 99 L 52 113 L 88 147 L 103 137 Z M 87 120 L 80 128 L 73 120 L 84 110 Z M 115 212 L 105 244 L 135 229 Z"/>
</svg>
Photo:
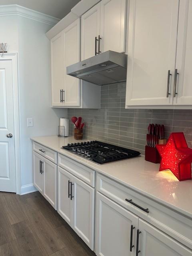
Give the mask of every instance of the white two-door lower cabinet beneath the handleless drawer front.
<svg viewBox="0 0 192 256">
<path fill-rule="evenodd" d="M 58 167 L 58 213 L 94 250 L 95 189 Z"/>
</svg>

